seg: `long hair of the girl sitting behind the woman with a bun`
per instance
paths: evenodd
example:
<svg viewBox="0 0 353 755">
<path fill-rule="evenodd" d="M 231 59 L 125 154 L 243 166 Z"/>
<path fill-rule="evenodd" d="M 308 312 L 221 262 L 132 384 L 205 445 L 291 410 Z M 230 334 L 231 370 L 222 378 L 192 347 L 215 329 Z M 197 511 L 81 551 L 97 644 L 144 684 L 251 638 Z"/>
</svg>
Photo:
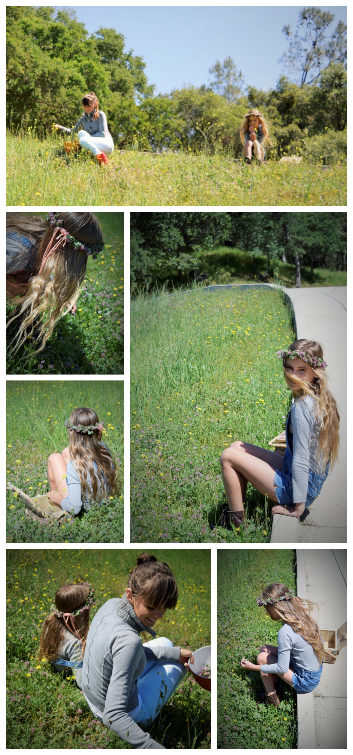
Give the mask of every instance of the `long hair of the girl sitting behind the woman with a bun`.
<svg viewBox="0 0 353 755">
<path fill-rule="evenodd" d="M 71 612 L 83 606 L 87 600 L 90 587 L 86 583 L 78 584 L 63 584 L 56 591 L 55 605 L 58 611 Z M 76 633 L 72 631 L 72 635 L 80 635 L 82 640 L 82 652 L 80 658 L 84 657 L 84 649 L 86 647 L 86 640 L 88 630 L 90 628 L 90 609 L 82 612 L 82 614 L 75 616 Z M 41 630 L 41 639 L 39 642 L 37 657 L 46 658 L 47 661 L 55 661 L 62 642 L 65 636 L 65 631 L 68 627 L 65 624 L 63 618 L 51 613 L 44 619 L 43 629 Z M 78 659 L 79 660 L 79 659 Z"/>
</svg>

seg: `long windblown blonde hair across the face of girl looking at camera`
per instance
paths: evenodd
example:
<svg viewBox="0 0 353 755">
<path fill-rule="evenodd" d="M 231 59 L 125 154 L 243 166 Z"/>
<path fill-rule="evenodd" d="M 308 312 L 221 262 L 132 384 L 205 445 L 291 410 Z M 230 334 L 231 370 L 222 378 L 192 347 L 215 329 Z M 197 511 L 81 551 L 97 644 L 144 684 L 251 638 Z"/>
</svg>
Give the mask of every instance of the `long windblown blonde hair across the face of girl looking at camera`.
<svg viewBox="0 0 353 755">
<path fill-rule="evenodd" d="M 306 338 L 300 338 L 299 341 L 294 341 L 291 346 L 288 347 L 291 351 L 303 351 L 307 352 L 309 356 L 315 356 L 317 359 L 324 359 L 324 353 L 321 344 L 317 341 L 307 341 Z M 298 384 L 298 390 L 303 390 L 303 396 L 312 396 L 316 403 L 316 419 L 319 425 L 318 431 L 318 451 L 322 452 L 323 464 L 326 467 L 327 461 L 330 460 L 330 468 L 333 469 L 336 464 L 339 452 L 339 413 L 337 410 L 336 401 L 333 398 L 332 393 L 327 387 L 327 375 L 325 368 L 315 367 L 310 365 L 312 371 L 315 374 L 314 383 L 307 383 L 300 380 L 300 377 L 289 374 L 285 368 L 285 362 L 287 357 L 283 359 L 283 371 L 285 375 L 293 383 Z M 294 397 L 296 391 L 293 391 Z"/>
</svg>

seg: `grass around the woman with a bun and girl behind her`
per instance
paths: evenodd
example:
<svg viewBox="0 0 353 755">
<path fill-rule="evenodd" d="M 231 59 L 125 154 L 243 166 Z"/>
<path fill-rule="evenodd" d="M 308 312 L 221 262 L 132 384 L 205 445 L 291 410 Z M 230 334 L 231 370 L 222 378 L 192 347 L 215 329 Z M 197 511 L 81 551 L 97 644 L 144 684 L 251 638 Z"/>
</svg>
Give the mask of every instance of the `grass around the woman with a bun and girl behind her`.
<svg viewBox="0 0 353 755">
<path fill-rule="evenodd" d="M 90 581 L 96 605 L 123 595 L 141 549 L 8 550 L 6 673 L 9 749 L 131 749 L 96 720 L 75 681 L 63 680 L 36 658 L 42 622 L 56 590 L 79 576 Z M 156 625 L 159 636 L 196 650 L 209 645 L 210 554 L 207 550 L 155 550 L 178 581 L 175 611 Z M 187 674 L 151 727 L 172 749 L 210 747 L 210 694 Z"/>
</svg>

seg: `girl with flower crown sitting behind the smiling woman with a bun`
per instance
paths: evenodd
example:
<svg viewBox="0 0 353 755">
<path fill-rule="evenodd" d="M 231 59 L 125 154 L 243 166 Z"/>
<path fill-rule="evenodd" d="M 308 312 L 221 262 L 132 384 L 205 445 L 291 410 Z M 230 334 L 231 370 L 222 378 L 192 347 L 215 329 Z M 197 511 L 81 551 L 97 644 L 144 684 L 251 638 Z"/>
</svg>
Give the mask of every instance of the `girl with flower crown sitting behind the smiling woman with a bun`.
<svg viewBox="0 0 353 755">
<path fill-rule="evenodd" d="M 94 590 L 88 582 L 64 584 L 44 621 L 38 658 L 46 658 L 64 676 L 75 676 L 81 689 L 82 666 Z"/>
</svg>

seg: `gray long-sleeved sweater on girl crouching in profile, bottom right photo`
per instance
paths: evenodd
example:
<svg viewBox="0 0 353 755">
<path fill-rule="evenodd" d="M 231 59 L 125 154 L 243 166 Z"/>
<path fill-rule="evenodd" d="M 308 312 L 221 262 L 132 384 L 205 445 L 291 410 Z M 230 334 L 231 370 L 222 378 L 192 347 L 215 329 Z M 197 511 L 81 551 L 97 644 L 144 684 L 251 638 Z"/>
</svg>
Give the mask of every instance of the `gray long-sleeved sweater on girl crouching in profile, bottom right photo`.
<svg viewBox="0 0 353 755">
<path fill-rule="evenodd" d="M 286 673 L 291 663 L 291 656 L 300 668 L 306 671 L 318 671 L 320 664 L 314 649 L 300 634 L 294 632 L 289 624 L 283 624 L 278 632 L 277 663 L 261 666 L 263 673 Z"/>
</svg>

